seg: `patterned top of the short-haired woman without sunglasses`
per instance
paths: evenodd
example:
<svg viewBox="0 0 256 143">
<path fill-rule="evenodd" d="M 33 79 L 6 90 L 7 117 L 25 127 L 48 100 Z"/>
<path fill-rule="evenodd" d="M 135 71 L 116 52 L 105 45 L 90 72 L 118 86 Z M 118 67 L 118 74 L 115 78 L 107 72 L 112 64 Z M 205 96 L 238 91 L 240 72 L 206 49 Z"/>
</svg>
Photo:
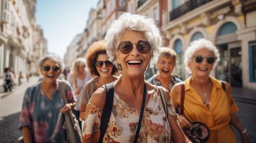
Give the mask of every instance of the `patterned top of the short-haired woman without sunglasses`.
<svg viewBox="0 0 256 143">
<path fill-rule="evenodd" d="M 172 87 L 176 84 L 176 83 L 179 83 L 179 82 L 182 82 L 180 79 L 174 77 L 173 75 L 171 75 L 172 77 L 172 80 L 170 81 L 169 85 L 168 85 L 168 91 L 169 93 L 171 92 L 172 90 Z M 149 83 L 153 84 L 153 85 L 156 85 L 156 86 L 162 86 L 161 82 L 156 78 L 156 74 L 153 75 L 151 78 L 149 78 L 147 80 Z"/>
</svg>

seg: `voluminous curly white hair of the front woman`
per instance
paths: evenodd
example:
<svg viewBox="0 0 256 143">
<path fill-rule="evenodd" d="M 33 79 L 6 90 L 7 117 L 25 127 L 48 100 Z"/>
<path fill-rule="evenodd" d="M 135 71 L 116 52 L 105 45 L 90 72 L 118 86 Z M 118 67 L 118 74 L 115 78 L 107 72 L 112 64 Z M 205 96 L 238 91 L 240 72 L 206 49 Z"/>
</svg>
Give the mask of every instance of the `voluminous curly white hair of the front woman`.
<svg viewBox="0 0 256 143">
<path fill-rule="evenodd" d="M 133 30 L 145 35 L 147 41 L 152 45 L 150 52 L 153 53 L 149 62 L 149 68 L 154 67 L 156 57 L 159 55 L 159 49 L 163 42 L 160 30 L 156 26 L 156 21 L 147 16 L 127 12 L 124 12 L 117 20 L 112 22 L 104 38 L 106 40 L 106 51 L 109 61 L 116 67 L 118 66 L 115 52 L 117 51 L 120 37 L 126 30 Z"/>
</svg>

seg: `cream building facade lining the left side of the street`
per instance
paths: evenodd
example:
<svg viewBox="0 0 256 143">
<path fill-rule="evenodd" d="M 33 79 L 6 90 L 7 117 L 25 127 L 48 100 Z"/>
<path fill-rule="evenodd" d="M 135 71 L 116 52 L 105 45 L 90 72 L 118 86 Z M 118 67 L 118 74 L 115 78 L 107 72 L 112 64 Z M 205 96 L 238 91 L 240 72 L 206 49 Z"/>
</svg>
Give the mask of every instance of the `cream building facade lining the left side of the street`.
<svg viewBox="0 0 256 143">
<path fill-rule="evenodd" d="M 47 47 L 43 33 L 36 31 L 36 0 L 0 0 L 0 12 L 0 77 L 6 67 L 11 67 L 15 75 L 39 74 L 35 65 L 43 55 L 38 52 L 47 51 Z M 43 44 L 37 42 L 38 38 Z"/>
</svg>

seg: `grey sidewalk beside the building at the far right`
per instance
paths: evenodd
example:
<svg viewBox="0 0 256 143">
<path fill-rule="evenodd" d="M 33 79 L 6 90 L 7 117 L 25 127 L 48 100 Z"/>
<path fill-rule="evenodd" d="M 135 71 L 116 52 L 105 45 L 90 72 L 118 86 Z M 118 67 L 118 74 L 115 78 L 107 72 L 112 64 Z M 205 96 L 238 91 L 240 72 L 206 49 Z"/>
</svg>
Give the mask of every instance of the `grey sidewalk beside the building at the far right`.
<svg viewBox="0 0 256 143">
<path fill-rule="evenodd" d="M 256 90 L 244 88 L 232 88 L 234 100 L 256 105 Z"/>
</svg>

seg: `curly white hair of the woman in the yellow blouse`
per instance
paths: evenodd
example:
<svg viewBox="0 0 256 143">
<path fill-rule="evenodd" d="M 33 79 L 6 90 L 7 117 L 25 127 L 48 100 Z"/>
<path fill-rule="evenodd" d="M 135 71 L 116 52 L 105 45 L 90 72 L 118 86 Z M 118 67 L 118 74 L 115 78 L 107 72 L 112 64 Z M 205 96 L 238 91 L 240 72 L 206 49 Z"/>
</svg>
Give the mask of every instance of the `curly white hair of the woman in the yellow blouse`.
<svg viewBox="0 0 256 143">
<path fill-rule="evenodd" d="M 213 56 L 217 57 L 216 61 L 213 64 L 212 70 L 216 67 L 216 65 L 220 61 L 219 50 L 212 44 L 211 41 L 208 41 L 206 39 L 198 39 L 196 41 L 192 41 L 185 52 L 185 59 L 184 59 L 184 64 L 186 66 L 185 68 L 188 71 L 188 73 L 191 73 L 191 70 L 189 69 L 188 64 L 191 63 L 192 57 L 194 56 L 197 50 L 200 50 L 203 48 L 206 48 L 209 51 L 212 51 Z"/>
</svg>

